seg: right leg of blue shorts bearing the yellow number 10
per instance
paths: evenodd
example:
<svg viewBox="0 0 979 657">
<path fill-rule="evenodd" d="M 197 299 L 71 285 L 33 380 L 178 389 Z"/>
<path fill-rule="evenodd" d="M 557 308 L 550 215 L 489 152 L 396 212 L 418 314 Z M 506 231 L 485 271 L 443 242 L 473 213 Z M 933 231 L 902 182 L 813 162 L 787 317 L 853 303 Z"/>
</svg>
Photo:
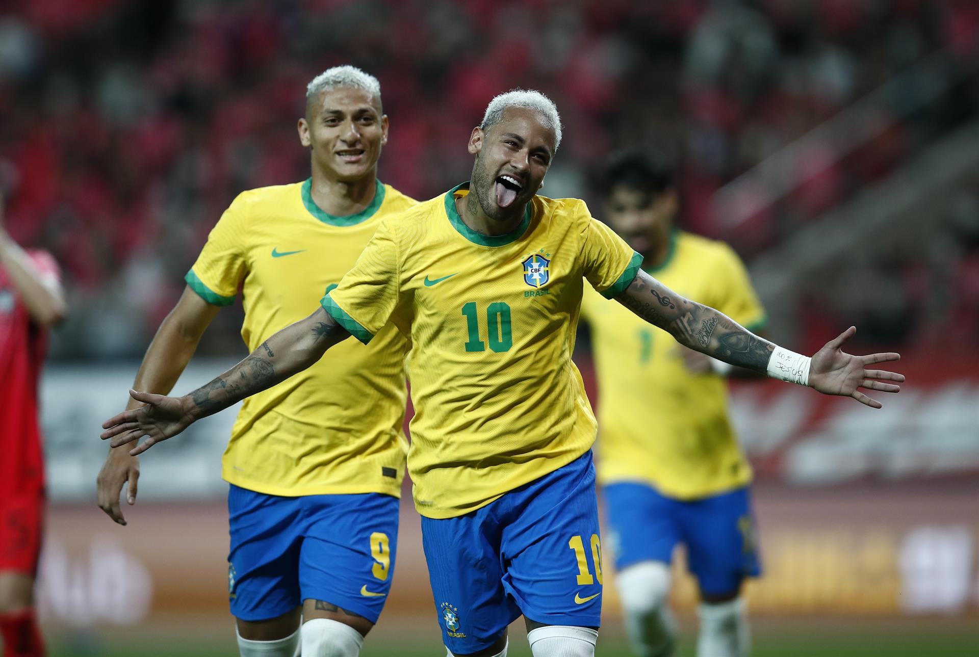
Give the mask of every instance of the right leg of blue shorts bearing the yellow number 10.
<svg viewBox="0 0 979 657">
<path fill-rule="evenodd" d="M 601 539 L 591 453 L 507 493 L 503 584 L 524 616 L 544 625 L 597 628 Z"/>
</svg>

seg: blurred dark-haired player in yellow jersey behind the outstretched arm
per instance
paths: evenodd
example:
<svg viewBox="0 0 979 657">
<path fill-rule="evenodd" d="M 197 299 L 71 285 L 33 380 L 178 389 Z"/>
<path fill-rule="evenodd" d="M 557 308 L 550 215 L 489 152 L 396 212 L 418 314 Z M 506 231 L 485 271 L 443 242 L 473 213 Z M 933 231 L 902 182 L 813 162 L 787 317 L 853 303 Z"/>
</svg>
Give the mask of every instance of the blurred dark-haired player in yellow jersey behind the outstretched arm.
<svg viewBox="0 0 979 657">
<path fill-rule="evenodd" d="M 647 273 L 750 331 L 764 327 L 765 309 L 733 250 L 676 227 L 671 166 L 624 152 L 600 179 L 606 221 L 642 254 Z M 585 295 L 582 314 L 601 394 L 598 479 L 633 650 L 675 654 L 667 598 L 674 548 L 683 543 L 700 588 L 698 654 L 747 655 L 741 582 L 760 565 L 751 466 L 731 427 L 724 378 L 759 375 L 688 350 L 597 295 Z"/>
</svg>

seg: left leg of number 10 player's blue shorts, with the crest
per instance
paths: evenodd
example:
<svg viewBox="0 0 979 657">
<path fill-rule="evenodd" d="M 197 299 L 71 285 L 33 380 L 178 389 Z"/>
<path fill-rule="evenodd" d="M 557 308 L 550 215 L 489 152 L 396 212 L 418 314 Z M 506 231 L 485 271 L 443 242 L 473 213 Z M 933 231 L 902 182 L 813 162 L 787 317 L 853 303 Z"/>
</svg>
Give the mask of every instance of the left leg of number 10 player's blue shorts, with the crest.
<svg viewBox="0 0 979 657">
<path fill-rule="evenodd" d="M 457 655 L 485 650 L 520 617 L 503 587 L 499 500 L 456 518 L 422 518 L 422 544 L 443 643 Z"/>
</svg>

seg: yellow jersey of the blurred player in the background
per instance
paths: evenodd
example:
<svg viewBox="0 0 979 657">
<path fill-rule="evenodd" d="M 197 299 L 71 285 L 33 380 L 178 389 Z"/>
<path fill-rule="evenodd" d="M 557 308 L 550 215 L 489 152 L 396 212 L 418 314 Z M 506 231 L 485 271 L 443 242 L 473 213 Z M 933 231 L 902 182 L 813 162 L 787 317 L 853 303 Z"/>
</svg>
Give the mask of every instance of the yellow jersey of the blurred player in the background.
<svg viewBox="0 0 979 657">
<path fill-rule="evenodd" d="M 749 330 L 765 324 L 744 264 L 722 242 L 675 231 L 667 260 L 646 271 Z M 724 378 L 690 373 L 685 348 L 623 305 L 585 295 L 582 312 L 598 374 L 599 481 L 643 482 L 678 499 L 748 484 L 751 466 L 727 416 Z"/>
</svg>

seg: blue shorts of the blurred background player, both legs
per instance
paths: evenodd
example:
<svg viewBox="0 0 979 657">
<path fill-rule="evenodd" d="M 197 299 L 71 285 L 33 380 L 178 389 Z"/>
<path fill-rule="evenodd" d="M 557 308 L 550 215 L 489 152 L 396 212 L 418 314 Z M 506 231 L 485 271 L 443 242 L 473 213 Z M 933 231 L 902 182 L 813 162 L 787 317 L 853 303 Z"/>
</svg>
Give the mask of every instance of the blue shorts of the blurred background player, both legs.
<svg viewBox="0 0 979 657">
<path fill-rule="evenodd" d="M 617 569 L 639 561 L 671 563 L 681 542 L 702 593 L 730 593 L 744 578 L 761 575 L 747 488 L 690 501 L 631 482 L 611 484 L 602 493 Z"/>
</svg>

